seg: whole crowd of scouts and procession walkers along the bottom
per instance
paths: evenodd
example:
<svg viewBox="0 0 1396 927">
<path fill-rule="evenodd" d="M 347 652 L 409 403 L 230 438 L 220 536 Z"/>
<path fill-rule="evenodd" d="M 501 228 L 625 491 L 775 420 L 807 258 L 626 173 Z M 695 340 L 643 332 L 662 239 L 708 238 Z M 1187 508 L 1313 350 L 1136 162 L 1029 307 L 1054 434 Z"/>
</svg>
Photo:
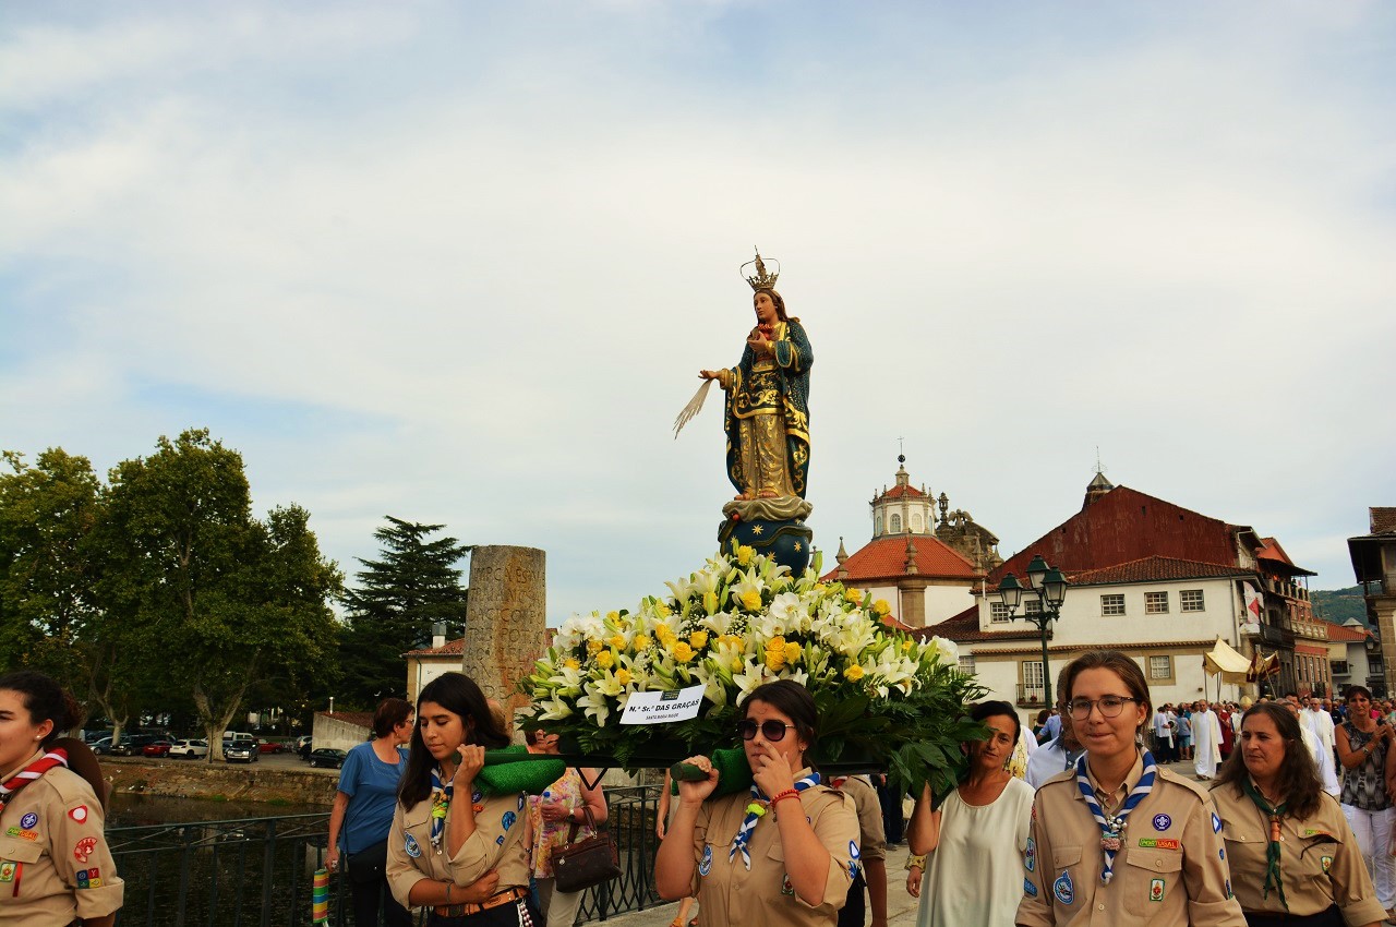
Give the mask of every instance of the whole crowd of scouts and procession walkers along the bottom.
<svg viewBox="0 0 1396 927">
<path fill-rule="evenodd" d="M 970 706 L 984 737 L 962 746 L 958 787 L 916 796 L 906 839 L 919 927 L 1396 923 L 1389 702 L 1357 685 L 1342 704 L 1154 706 L 1139 665 L 1115 651 L 1078 656 L 1057 691 L 1060 708 L 1032 730 L 1007 702 Z M 105 783 L 59 736 L 80 720 L 47 677 L 0 677 L 6 923 L 101 927 L 120 909 Z M 378 706 L 329 822 L 327 861 L 346 870 L 355 923 L 406 924 L 426 907 L 431 927 L 571 927 L 579 892 L 556 891 L 550 860 L 577 826 L 604 822 L 599 771 L 567 769 L 536 796 L 483 793 L 476 776 L 486 750 L 510 744 L 507 722 L 461 673 L 429 683 L 416 705 Z M 719 789 L 705 755 L 687 761 L 705 778 L 671 799 L 666 789 L 653 873 L 663 898 L 684 902 L 674 927 L 854 927 L 870 913 L 885 927 L 878 792 L 815 768 L 810 692 L 757 687 L 736 734 L 750 789 Z M 525 736 L 530 752 L 557 754 L 553 734 Z"/>
</svg>

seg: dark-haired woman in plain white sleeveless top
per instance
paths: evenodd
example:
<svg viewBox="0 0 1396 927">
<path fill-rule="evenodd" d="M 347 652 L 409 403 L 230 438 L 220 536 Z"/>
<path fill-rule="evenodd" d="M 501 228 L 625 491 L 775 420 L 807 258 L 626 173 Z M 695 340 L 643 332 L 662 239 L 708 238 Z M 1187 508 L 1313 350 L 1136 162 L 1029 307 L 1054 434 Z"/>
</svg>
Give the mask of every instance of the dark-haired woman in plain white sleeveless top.
<svg viewBox="0 0 1396 927">
<path fill-rule="evenodd" d="M 981 702 L 969 716 L 988 727 L 988 739 L 960 747 L 969 769 L 941 807 L 933 810 L 926 786 L 906 832 L 912 853 L 926 854 L 924 882 L 913 892 L 921 899 L 917 927 L 1008 927 L 1022 898 L 1033 787 L 1007 768 L 1022 730 L 1018 712 L 1008 702 Z"/>
</svg>

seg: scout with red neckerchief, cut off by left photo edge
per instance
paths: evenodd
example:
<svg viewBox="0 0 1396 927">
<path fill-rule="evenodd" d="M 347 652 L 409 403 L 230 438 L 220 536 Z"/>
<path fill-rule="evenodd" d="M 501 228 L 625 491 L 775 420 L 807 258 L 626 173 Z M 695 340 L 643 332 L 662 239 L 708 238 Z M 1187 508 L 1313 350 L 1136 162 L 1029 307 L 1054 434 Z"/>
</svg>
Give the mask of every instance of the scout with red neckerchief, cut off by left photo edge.
<svg viewBox="0 0 1396 927">
<path fill-rule="evenodd" d="M 57 708 L 54 708 L 57 705 Z M 57 725 L 54 723 L 57 720 Z M 0 677 L 0 923 L 110 924 L 124 887 L 102 835 L 96 794 L 52 750 L 56 727 L 81 723 L 40 673 Z M 47 751 L 47 752 L 46 752 Z M 18 754 L 18 755 L 17 755 Z"/>
</svg>

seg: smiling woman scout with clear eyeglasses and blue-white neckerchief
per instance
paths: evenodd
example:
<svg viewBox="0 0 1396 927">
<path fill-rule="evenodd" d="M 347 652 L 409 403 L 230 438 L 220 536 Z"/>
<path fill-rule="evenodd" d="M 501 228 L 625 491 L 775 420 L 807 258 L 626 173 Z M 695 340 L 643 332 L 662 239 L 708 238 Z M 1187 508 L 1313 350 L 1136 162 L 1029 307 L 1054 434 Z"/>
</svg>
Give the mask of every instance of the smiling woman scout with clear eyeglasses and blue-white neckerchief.
<svg viewBox="0 0 1396 927">
<path fill-rule="evenodd" d="M 1212 799 L 1139 747 L 1153 715 L 1139 665 L 1087 651 L 1058 690 L 1086 752 L 1033 800 L 1016 923 L 1244 927 Z"/>
</svg>

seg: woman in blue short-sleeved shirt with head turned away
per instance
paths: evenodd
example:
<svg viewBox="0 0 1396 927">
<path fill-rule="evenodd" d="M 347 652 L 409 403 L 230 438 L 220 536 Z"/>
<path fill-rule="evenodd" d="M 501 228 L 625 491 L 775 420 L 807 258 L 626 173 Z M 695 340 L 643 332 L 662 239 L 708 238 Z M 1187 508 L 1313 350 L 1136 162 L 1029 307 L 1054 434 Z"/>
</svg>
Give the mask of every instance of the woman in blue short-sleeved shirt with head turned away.
<svg viewBox="0 0 1396 927">
<path fill-rule="evenodd" d="M 359 744 L 345 757 L 339 790 L 329 813 L 329 871 L 339 868 L 341 846 L 348 859 L 349 889 L 353 893 L 353 923 L 371 927 L 410 927 L 412 916 L 388 889 L 388 831 L 398 780 L 408 765 L 403 744 L 412 740 L 412 704 L 385 698 L 373 715 L 374 740 Z"/>
</svg>

